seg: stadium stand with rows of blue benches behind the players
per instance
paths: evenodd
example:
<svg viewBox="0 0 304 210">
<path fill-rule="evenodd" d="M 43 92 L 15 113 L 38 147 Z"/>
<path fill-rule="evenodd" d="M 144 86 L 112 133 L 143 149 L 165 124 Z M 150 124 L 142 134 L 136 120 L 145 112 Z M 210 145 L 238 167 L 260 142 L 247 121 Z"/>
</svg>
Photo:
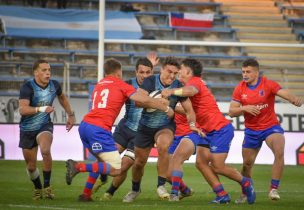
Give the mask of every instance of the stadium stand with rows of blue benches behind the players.
<svg viewBox="0 0 304 210">
<path fill-rule="evenodd" d="M 3 27 L 5 31 L 0 30 L 0 94 L 18 94 L 16 90 L 23 79 L 31 75 L 31 62 L 37 58 L 46 58 L 52 64 L 55 78 L 62 82 L 64 63 L 68 62 L 72 96 L 86 97 L 88 83 L 96 81 L 97 76 L 98 1 L 73 0 L 69 1 L 68 9 L 54 10 L 49 8 L 56 7 L 55 1 L 49 1 L 48 9 L 42 9 L 37 8 L 39 5 L 24 7 L 26 5 L 23 1 L 0 0 L 0 4 L 6 5 L 12 5 L 13 2 L 19 2 L 21 7 L 1 6 L 0 8 L 2 12 L 0 15 L 4 20 L 2 25 L 5 25 Z M 288 27 L 288 18 L 297 17 L 286 16 L 284 19 L 284 14 L 279 8 L 283 3 L 274 0 L 106 0 L 105 37 L 118 40 L 142 38 L 236 43 L 238 41 L 299 43 L 291 27 Z M 199 29 L 171 26 L 171 12 L 213 13 L 213 26 Z M 9 21 L 3 18 L 3 14 L 6 17 L 18 14 L 17 18 L 26 16 L 42 21 L 46 19 L 59 21 L 61 29 L 64 30 L 58 33 L 58 28 L 55 27 L 54 31 L 57 32 L 52 33 L 54 28 L 50 27 L 49 23 L 44 24 L 45 30 L 41 31 L 40 28 L 39 33 L 30 27 L 26 30 L 25 26 L 17 28 L 18 30 L 12 29 L 9 27 Z M 35 14 L 38 16 L 35 17 Z M 48 16 L 44 16 L 45 14 Z M 61 15 L 65 15 L 64 21 L 60 19 Z M 48 18 L 49 16 L 51 18 Z M 74 20 L 70 19 L 71 17 Z M 121 19 L 128 19 L 132 24 L 124 22 L 121 23 L 123 26 L 115 25 Z M 77 24 L 74 24 L 75 22 Z M 22 25 L 21 22 L 18 23 L 19 26 Z M 24 23 L 23 25 L 28 26 Z M 304 81 L 301 77 L 303 48 L 105 42 L 105 57 L 116 57 L 122 61 L 125 79 L 134 76 L 133 66 L 136 58 L 145 56 L 149 51 L 158 52 L 161 58 L 174 55 L 180 59 L 187 56 L 200 59 L 205 66 L 204 79 L 208 81 L 208 86 L 218 100 L 230 100 L 232 90 L 241 78 L 240 65 L 246 58 L 258 58 L 264 74 L 274 78 L 284 87 L 292 87 L 296 92 L 303 90 L 301 85 Z M 303 94 L 302 91 L 299 95 Z"/>
</svg>

